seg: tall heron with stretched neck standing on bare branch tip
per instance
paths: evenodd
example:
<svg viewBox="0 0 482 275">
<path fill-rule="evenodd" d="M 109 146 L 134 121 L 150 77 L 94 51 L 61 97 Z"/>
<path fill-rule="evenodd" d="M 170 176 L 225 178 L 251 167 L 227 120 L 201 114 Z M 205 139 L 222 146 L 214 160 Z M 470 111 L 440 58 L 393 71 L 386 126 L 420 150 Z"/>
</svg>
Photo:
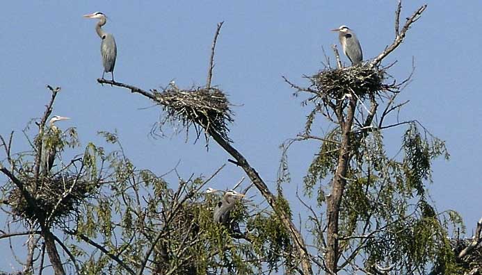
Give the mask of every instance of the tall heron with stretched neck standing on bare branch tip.
<svg viewBox="0 0 482 275">
<path fill-rule="evenodd" d="M 117 57 L 117 46 L 115 45 L 115 39 L 110 33 L 106 33 L 102 26 L 107 22 L 107 17 L 102 12 L 94 12 L 90 15 L 83 15 L 85 18 L 99 19 L 95 31 L 99 35 L 102 42 L 100 43 L 100 53 L 102 55 L 102 65 L 104 65 L 104 72 L 102 73 L 102 79 L 104 74 L 110 72 L 112 74 L 112 81 L 114 81 L 114 66 L 115 58 Z"/>
</svg>

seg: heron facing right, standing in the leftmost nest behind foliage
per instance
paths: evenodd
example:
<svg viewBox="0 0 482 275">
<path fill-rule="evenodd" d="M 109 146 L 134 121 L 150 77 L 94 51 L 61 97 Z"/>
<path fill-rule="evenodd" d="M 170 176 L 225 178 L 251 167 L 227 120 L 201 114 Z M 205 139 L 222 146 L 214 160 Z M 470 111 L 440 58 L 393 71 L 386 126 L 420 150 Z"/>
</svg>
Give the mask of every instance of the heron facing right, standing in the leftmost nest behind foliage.
<svg viewBox="0 0 482 275">
<path fill-rule="evenodd" d="M 42 158 L 43 171 L 45 174 L 49 173 L 52 167 L 54 167 L 55 155 L 57 153 L 58 143 L 60 142 L 61 138 L 61 130 L 55 126 L 55 123 L 65 119 L 70 118 L 54 115 L 54 117 L 49 120 L 49 130 L 44 136 L 44 157 Z"/>
</svg>

